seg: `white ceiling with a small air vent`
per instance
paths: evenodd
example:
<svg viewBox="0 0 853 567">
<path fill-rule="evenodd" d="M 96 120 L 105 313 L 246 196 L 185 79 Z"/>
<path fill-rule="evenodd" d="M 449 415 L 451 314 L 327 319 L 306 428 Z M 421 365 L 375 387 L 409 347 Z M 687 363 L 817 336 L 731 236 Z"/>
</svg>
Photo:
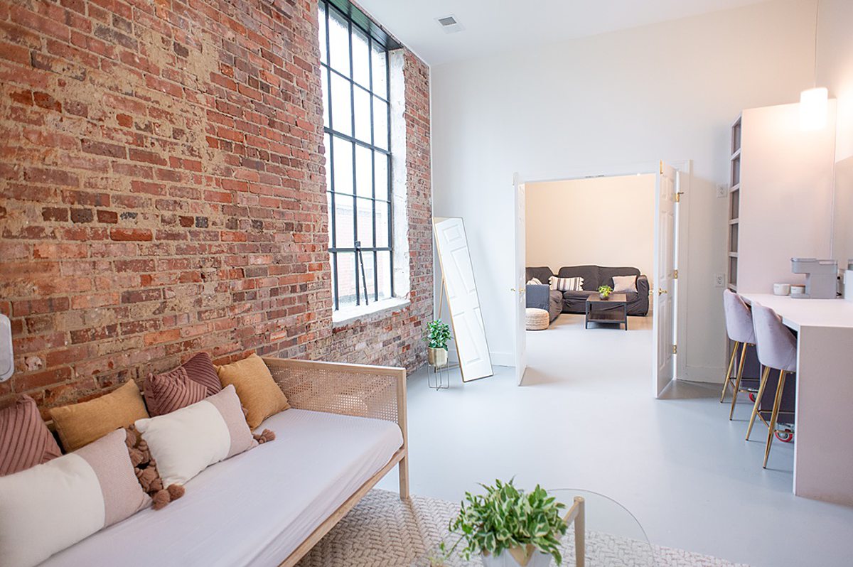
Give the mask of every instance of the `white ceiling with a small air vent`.
<svg viewBox="0 0 853 567">
<path fill-rule="evenodd" d="M 430 65 L 645 26 L 763 0 L 358 0 Z M 445 33 L 454 14 L 464 30 Z"/>
</svg>

